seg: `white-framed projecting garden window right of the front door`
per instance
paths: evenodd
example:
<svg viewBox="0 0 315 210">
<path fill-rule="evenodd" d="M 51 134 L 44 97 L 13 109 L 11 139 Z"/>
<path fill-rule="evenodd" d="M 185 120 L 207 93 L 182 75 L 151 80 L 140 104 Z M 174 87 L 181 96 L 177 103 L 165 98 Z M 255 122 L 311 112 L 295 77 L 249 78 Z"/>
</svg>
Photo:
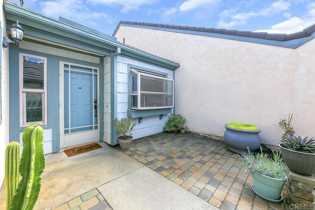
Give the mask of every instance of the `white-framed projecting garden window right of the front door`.
<svg viewBox="0 0 315 210">
<path fill-rule="evenodd" d="M 173 80 L 163 75 L 131 70 L 131 109 L 171 108 L 174 104 Z"/>
</svg>

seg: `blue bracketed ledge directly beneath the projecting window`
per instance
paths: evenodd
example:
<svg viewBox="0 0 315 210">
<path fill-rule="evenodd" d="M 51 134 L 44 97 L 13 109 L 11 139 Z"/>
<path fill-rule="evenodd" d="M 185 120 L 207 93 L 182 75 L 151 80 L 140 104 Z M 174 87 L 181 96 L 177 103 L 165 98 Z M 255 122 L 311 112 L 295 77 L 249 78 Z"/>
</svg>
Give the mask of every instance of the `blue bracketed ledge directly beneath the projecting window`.
<svg viewBox="0 0 315 210">
<path fill-rule="evenodd" d="M 128 118 L 139 118 L 138 122 L 141 123 L 144 117 L 156 116 L 159 115 L 159 119 L 163 119 L 163 115 L 172 113 L 172 108 L 166 109 L 147 109 L 147 110 L 136 110 L 128 109 L 127 115 Z"/>
</svg>

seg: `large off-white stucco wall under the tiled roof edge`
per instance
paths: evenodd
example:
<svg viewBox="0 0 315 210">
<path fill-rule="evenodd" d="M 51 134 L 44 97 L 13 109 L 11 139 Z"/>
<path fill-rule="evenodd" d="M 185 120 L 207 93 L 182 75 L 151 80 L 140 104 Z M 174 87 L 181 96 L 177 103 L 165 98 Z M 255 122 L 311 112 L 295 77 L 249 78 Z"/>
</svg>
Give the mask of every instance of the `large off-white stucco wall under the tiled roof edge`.
<svg viewBox="0 0 315 210">
<path fill-rule="evenodd" d="M 117 40 L 180 62 L 175 111 L 190 131 L 223 136 L 226 122 L 260 127 L 278 145 L 279 121 L 293 113 L 297 134 L 315 136 L 315 40 L 297 49 L 121 26 Z"/>
</svg>

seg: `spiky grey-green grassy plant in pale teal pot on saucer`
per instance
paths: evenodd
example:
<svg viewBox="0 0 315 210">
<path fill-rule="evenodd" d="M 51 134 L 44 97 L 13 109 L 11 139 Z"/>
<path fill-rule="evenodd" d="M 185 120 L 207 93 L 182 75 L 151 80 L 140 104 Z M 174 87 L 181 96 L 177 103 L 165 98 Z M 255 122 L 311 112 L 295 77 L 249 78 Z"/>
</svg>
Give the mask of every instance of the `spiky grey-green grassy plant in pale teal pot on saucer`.
<svg viewBox="0 0 315 210">
<path fill-rule="evenodd" d="M 273 158 L 260 152 L 242 153 L 244 171 L 252 175 L 252 190 L 259 197 L 271 201 L 282 202 L 282 188 L 287 180 L 286 168 L 280 152 L 273 151 Z"/>
</svg>

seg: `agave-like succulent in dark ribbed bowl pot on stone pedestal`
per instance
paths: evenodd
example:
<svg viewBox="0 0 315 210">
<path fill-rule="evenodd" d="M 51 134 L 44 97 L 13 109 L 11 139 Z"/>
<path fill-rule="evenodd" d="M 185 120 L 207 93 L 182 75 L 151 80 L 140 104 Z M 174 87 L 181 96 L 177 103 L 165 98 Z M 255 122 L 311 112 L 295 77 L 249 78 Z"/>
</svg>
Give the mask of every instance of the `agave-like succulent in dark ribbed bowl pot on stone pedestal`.
<svg viewBox="0 0 315 210">
<path fill-rule="evenodd" d="M 295 136 L 284 133 L 282 144 L 279 144 L 287 167 L 304 176 L 315 174 L 315 137 Z"/>
</svg>

